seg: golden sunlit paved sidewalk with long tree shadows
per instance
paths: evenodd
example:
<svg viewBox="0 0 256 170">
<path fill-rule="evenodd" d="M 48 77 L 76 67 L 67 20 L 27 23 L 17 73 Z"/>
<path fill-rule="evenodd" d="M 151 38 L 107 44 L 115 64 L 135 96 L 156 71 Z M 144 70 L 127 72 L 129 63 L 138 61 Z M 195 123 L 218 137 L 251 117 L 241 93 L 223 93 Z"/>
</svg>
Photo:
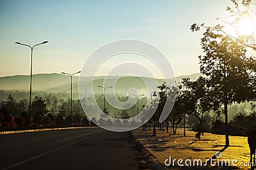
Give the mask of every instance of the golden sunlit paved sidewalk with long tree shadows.
<svg viewBox="0 0 256 170">
<path fill-rule="evenodd" d="M 140 143 L 161 163 L 164 169 L 250 169 L 246 163 L 250 161 L 250 149 L 246 137 L 230 136 L 230 146 L 225 146 L 225 136 L 205 133 L 201 141 L 195 138 L 193 131 L 186 131 L 186 137 L 183 136 L 183 129 L 177 129 L 177 134 L 173 135 L 172 131 L 168 134 L 165 132 L 156 131 L 157 136 L 152 136 L 152 129 L 146 129 L 145 132 L 142 128 L 136 129 L 133 132 L 134 136 L 138 138 Z M 217 152 L 221 154 L 217 155 Z M 172 159 L 170 166 L 165 166 L 166 159 Z M 220 159 L 219 159 L 220 157 Z M 216 166 L 196 166 L 196 167 L 182 167 L 178 166 L 177 160 L 182 159 L 181 164 L 185 164 L 186 159 L 191 160 L 193 165 L 194 159 L 201 159 L 204 165 L 206 159 L 216 159 Z M 173 160 L 175 164 L 173 166 Z M 230 166 L 223 166 L 225 160 L 230 160 Z M 237 161 L 236 161 L 236 160 Z M 189 164 L 189 160 L 187 163 Z M 234 160 L 234 164 L 232 161 Z M 223 163 L 221 163 L 223 161 Z M 166 162 L 169 163 L 169 160 Z M 208 162 L 210 164 L 210 161 Z M 219 163 L 219 166 L 218 166 Z M 195 162 L 197 164 L 197 162 Z M 236 166 L 235 166 L 236 165 Z"/>
</svg>

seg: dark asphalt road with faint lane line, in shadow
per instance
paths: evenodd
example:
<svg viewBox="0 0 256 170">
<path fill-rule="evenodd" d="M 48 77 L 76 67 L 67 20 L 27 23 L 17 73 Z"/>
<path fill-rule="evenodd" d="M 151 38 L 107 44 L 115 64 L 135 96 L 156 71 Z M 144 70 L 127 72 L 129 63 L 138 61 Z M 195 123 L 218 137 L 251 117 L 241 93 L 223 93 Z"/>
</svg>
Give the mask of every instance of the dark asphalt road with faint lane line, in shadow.
<svg viewBox="0 0 256 170">
<path fill-rule="evenodd" d="M 129 135 L 98 127 L 0 135 L 0 169 L 138 169 Z"/>
</svg>

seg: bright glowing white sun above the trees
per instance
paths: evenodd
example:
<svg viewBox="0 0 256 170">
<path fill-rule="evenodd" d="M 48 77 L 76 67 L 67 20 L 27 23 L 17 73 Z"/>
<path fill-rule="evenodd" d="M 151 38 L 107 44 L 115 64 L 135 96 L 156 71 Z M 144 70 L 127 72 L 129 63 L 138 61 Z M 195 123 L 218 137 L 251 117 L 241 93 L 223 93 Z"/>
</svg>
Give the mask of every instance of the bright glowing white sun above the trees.
<svg viewBox="0 0 256 170">
<path fill-rule="evenodd" d="M 237 34 L 240 36 L 246 36 L 256 33 L 255 24 L 248 18 L 243 18 L 237 25 Z"/>
</svg>

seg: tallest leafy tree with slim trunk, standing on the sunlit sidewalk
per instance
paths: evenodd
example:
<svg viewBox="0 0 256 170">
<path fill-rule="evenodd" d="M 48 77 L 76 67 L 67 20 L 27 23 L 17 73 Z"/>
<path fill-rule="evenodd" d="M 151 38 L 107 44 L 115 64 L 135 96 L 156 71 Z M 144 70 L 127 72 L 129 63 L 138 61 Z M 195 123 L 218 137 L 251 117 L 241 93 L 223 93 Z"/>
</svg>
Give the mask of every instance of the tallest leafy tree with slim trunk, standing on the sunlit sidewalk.
<svg viewBox="0 0 256 170">
<path fill-rule="evenodd" d="M 228 139 L 228 104 L 240 103 L 250 97 L 248 58 L 246 49 L 232 39 L 208 28 L 201 39 L 204 55 L 200 55 L 200 72 L 209 78 L 208 85 L 215 94 L 219 108 L 223 104 Z"/>
</svg>

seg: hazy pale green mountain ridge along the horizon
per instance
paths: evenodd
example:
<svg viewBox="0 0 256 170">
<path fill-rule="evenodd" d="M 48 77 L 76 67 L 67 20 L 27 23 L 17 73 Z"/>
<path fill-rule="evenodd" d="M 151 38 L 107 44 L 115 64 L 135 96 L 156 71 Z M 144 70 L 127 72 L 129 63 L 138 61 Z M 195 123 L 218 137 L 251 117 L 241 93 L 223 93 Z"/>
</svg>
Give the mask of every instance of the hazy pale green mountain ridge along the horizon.
<svg viewBox="0 0 256 170">
<path fill-rule="evenodd" d="M 177 76 L 177 82 L 180 82 L 182 78 L 189 77 L 191 80 L 196 80 L 200 76 L 200 73 L 186 75 L 186 76 Z M 116 82 L 119 76 L 109 76 L 108 82 Z M 154 78 L 142 78 L 143 81 L 147 82 L 148 87 L 154 85 L 156 80 Z M 93 80 L 93 81 L 92 81 Z M 78 81 L 79 76 L 72 77 L 72 90 L 73 92 L 78 91 Z M 83 77 L 81 78 L 81 84 L 86 90 L 93 83 L 93 90 L 96 93 L 102 93 L 102 89 L 97 87 L 97 85 L 103 85 L 104 76 L 97 77 Z M 119 79 L 116 82 L 115 92 L 117 93 L 126 93 L 127 90 L 131 87 L 136 87 L 136 89 L 145 89 L 145 84 L 139 78 L 135 77 L 124 77 Z M 16 75 L 16 76 L 5 76 L 0 77 L 0 90 L 29 90 L 29 75 Z M 158 83 L 163 83 L 163 79 L 157 79 Z M 156 88 L 150 87 L 151 89 Z M 69 92 L 70 91 L 70 76 L 65 74 L 34 74 L 32 79 L 32 89 L 35 91 L 46 91 L 46 92 Z"/>
</svg>

